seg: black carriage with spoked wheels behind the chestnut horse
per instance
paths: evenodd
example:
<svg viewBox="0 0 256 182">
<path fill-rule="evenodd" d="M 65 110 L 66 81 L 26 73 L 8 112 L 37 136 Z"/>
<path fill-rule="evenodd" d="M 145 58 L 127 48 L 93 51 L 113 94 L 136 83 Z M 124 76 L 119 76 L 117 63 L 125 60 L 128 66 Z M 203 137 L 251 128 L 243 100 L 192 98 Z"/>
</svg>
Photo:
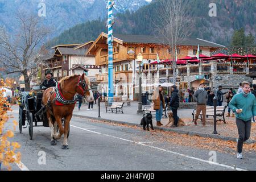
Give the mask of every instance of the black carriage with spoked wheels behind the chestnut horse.
<svg viewBox="0 0 256 182">
<path fill-rule="evenodd" d="M 22 129 L 28 127 L 31 140 L 33 127 L 49 127 L 46 108 L 42 105 L 43 92 L 39 86 L 35 86 L 32 90 L 34 92 L 22 92 L 19 99 L 19 132 L 22 133 Z M 65 120 L 62 119 L 62 122 L 64 125 Z"/>
</svg>

